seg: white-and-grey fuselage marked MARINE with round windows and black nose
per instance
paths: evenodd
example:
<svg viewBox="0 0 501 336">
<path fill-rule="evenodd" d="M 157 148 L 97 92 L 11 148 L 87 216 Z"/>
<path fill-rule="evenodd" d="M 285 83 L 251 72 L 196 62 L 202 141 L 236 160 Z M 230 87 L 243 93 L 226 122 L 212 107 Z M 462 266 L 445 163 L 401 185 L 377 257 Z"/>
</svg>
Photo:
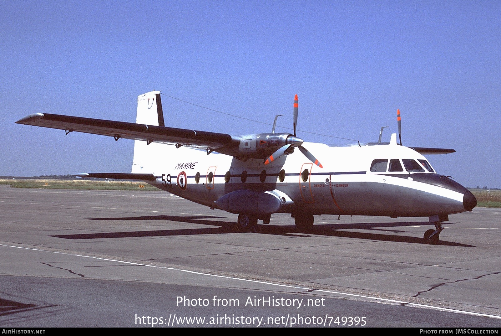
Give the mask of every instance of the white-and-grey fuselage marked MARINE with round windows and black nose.
<svg viewBox="0 0 501 336">
<path fill-rule="evenodd" d="M 308 143 L 308 148 L 323 162 L 322 168 L 297 150 L 265 165 L 262 159 L 241 161 L 181 147 L 169 150 L 154 166 L 133 167 L 133 173 L 152 173 L 157 177 L 152 185 L 211 208 L 218 208 L 214 202 L 224 195 L 245 190 L 286 194 L 293 206 L 277 212 L 318 215 L 429 217 L 469 211 L 476 204 L 466 188 L 436 174 L 431 166 L 431 172 L 422 164 L 419 172 L 407 171 L 402 159 L 416 165 L 426 158 L 396 143 L 352 147 Z M 398 160 L 403 171 L 390 172 L 388 167 L 372 172 L 371 163 L 378 159 L 386 160 L 382 165 Z"/>
</svg>

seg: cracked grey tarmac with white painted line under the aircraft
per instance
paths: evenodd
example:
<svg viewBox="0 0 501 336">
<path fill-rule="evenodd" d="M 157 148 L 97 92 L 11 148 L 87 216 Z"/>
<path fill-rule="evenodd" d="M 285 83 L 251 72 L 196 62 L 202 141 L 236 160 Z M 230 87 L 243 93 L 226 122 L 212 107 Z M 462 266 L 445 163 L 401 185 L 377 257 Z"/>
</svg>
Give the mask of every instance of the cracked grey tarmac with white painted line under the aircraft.
<svg viewBox="0 0 501 336">
<path fill-rule="evenodd" d="M 452 325 L 501 325 L 501 209 L 475 208 L 449 215 L 437 245 L 422 239 L 424 231 L 433 228 L 426 218 L 315 216 L 310 233 L 297 230 L 287 214 L 272 215 L 270 224 L 260 222 L 252 232 L 239 232 L 236 218 L 165 192 L 2 185 L 0 300 L 4 308 L 0 326 L 36 326 L 37 321 L 62 326 L 62 322 L 54 322 L 54 316 L 64 319 L 69 311 L 82 316 L 79 309 L 87 314 L 87 322 L 70 319 L 70 326 L 124 326 L 119 318 L 115 324 L 107 323 L 109 318 L 96 320 L 95 304 L 76 310 L 65 306 L 93 297 L 95 286 L 101 293 L 107 292 L 109 281 L 122 283 L 113 290 L 126 293 L 131 290 L 125 287 L 137 288 L 137 283 L 156 286 L 150 295 L 156 297 L 153 301 L 145 300 L 144 294 L 124 305 L 119 294 L 108 293 L 116 295 L 114 314 L 120 311 L 122 315 L 147 311 L 155 304 L 157 310 L 167 307 L 179 312 L 176 309 L 181 308 L 172 302 L 178 296 L 245 300 L 257 292 L 258 297 L 268 293 L 277 298 L 304 294 L 298 297 L 305 302 L 316 297 L 363 303 L 346 309 L 356 311 L 357 316 L 374 311 L 368 326 L 420 325 L 419 318 L 376 323 L 380 303 L 438 309 L 414 309 L 426 310 L 425 315 L 432 312 L 431 317 L 421 317 L 421 323 L 437 317 L 429 326 L 448 325 L 440 323 L 443 317 L 437 311 L 462 316 L 456 320 L 447 315 Z M 84 289 L 91 283 L 95 286 Z M 27 294 L 39 285 L 40 292 Z M 51 296 L 42 288 L 59 288 L 66 296 L 76 295 L 70 293 L 81 288 L 85 295 L 70 300 L 57 293 Z M 159 293 L 167 292 L 164 299 L 169 299 L 160 299 Z M 293 300 L 294 295 L 286 298 Z M 189 311 L 219 313 L 212 301 L 210 306 L 213 310 L 208 311 L 196 304 Z M 102 307 L 109 310 L 105 303 Z M 278 314 L 275 308 L 268 308 L 268 316 Z M 319 314 L 327 314 L 327 308 L 315 307 Z M 293 308 L 281 309 L 285 309 L 281 314 L 287 314 Z M 97 322 L 89 324 L 92 319 Z M 142 325 L 136 321 L 133 326 Z"/>
</svg>

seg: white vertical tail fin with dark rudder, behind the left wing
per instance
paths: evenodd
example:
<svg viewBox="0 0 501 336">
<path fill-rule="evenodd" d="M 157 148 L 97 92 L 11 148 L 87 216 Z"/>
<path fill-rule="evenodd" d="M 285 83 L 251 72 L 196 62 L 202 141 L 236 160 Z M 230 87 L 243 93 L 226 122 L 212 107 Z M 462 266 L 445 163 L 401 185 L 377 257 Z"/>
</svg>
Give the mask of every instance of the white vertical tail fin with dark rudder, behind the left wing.
<svg viewBox="0 0 501 336">
<path fill-rule="evenodd" d="M 136 123 L 165 126 L 162 111 L 160 91 L 151 91 L 137 97 Z M 132 173 L 153 173 L 151 162 L 155 157 L 155 149 L 158 143 L 148 144 L 146 141 L 134 141 L 134 158 L 132 161 Z"/>
</svg>

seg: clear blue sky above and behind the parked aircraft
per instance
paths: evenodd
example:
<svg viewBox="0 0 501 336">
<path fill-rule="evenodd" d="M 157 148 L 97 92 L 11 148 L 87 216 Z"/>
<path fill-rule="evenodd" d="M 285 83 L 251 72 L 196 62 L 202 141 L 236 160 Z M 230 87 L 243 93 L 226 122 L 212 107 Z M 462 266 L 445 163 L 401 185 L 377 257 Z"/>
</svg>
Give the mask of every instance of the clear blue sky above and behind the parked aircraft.
<svg viewBox="0 0 501 336">
<path fill-rule="evenodd" d="M 14 124 L 35 112 L 135 121 L 137 96 L 429 155 L 465 186 L 501 188 L 501 3 L 18 2 L 0 11 L 0 175 L 129 172 L 133 141 Z M 166 124 L 270 126 L 162 96 Z M 279 129 L 286 131 L 285 129 Z M 307 141 L 347 144 L 298 132 Z"/>
</svg>

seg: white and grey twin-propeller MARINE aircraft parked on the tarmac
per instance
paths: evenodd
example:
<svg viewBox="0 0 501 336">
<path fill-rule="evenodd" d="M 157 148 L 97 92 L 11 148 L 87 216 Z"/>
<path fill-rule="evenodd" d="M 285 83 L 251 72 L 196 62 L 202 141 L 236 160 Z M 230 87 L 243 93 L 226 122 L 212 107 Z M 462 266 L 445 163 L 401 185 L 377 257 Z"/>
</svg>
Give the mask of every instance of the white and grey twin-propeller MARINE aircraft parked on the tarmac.
<svg viewBox="0 0 501 336">
<path fill-rule="evenodd" d="M 277 119 L 275 119 L 276 122 Z M 475 197 L 435 173 L 422 154 L 453 149 L 405 147 L 396 134 L 389 143 L 334 147 L 304 142 L 294 134 L 233 136 L 166 127 L 160 91 L 137 99 L 136 123 L 49 113 L 31 114 L 19 124 L 133 139 L 132 173 L 91 173 L 81 177 L 143 180 L 187 200 L 238 214 L 246 231 L 274 213 L 289 213 L 301 231 L 314 215 L 428 217 L 435 230 L 424 240 L 436 244 L 449 214 L 471 211 Z M 399 133 L 400 113 L 397 115 Z M 296 150 L 298 149 L 298 150 Z"/>
</svg>

